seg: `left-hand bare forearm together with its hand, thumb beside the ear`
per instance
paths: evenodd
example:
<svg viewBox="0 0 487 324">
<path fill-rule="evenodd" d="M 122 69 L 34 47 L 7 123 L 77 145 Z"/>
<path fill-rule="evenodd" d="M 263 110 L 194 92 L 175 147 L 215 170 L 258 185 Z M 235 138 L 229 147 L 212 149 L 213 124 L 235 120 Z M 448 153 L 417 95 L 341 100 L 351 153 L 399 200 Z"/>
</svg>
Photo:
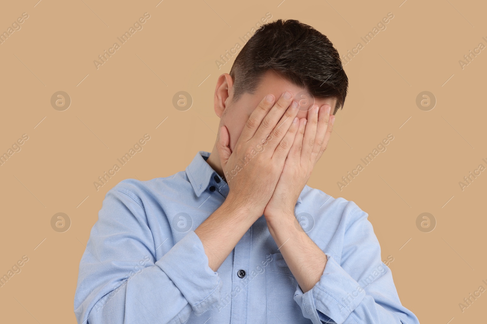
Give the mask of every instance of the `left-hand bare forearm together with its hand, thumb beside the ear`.
<svg viewBox="0 0 487 324">
<path fill-rule="evenodd" d="M 274 102 L 273 95 L 262 99 L 233 152 L 228 130 L 225 126 L 220 130 L 217 150 L 230 191 L 225 202 L 194 231 L 213 271 L 220 268 L 249 227 L 262 216 L 293 145 L 299 105 L 291 104 L 290 93 Z"/>
</svg>

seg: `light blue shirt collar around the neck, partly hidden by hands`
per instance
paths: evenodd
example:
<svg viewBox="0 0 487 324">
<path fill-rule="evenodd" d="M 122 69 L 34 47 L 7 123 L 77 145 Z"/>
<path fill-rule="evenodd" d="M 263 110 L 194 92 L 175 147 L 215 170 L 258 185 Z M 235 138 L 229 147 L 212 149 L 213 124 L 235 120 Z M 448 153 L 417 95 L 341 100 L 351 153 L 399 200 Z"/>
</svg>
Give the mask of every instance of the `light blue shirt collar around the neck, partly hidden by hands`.
<svg viewBox="0 0 487 324">
<path fill-rule="evenodd" d="M 216 174 L 216 171 L 206 162 L 208 156 L 210 156 L 209 152 L 199 151 L 186 167 L 187 177 L 197 197 L 201 196 L 201 193 L 206 190 L 211 177 Z M 301 203 L 301 194 L 302 191 L 298 197 L 298 203 Z"/>
</svg>

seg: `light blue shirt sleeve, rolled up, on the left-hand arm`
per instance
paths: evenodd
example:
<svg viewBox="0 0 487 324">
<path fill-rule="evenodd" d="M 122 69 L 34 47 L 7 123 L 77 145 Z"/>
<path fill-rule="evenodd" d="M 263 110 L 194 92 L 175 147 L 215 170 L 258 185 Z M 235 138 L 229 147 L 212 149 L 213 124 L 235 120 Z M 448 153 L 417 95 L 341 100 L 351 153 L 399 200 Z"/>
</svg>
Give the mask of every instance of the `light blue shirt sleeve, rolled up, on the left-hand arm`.
<svg viewBox="0 0 487 324">
<path fill-rule="evenodd" d="M 172 241 L 169 227 L 165 234 Z M 155 251 L 140 199 L 130 191 L 110 190 L 80 261 L 77 322 L 180 324 L 192 312 L 217 307 L 222 282 L 194 231 L 159 260 Z"/>
</svg>

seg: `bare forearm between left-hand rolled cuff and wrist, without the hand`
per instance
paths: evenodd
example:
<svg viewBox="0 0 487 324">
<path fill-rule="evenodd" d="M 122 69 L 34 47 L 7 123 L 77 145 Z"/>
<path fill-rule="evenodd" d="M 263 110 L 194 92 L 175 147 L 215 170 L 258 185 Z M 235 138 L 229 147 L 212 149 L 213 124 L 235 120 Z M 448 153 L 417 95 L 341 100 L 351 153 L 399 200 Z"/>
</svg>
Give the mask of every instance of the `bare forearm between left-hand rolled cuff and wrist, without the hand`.
<svg viewBox="0 0 487 324">
<path fill-rule="evenodd" d="M 230 196 L 194 231 L 201 239 L 208 265 L 217 271 L 262 212 L 239 204 Z"/>
</svg>

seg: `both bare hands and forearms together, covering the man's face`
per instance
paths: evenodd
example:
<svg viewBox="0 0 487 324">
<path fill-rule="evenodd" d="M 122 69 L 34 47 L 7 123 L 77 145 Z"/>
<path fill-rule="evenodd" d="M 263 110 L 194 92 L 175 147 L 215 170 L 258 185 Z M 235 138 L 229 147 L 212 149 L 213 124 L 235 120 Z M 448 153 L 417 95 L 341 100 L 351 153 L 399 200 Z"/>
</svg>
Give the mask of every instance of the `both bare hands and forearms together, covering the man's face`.
<svg viewBox="0 0 487 324">
<path fill-rule="evenodd" d="M 296 117 L 300 109 L 292 95 L 283 94 L 277 102 L 270 95 L 250 115 L 233 152 L 228 130 L 222 126 L 217 150 L 230 191 L 225 202 L 195 229 L 213 271 L 262 214 L 279 246 L 300 234 L 292 222 L 296 221 L 294 206 L 328 143 L 333 117 L 329 119 L 329 113 L 322 111 L 326 107 L 319 114 L 308 112 L 310 122 L 305 127 L 306 119 Z M 303 290 L 318 281 L 326 256 L 311 239 L 305 235 L 290 247 L 282 246 L 281 251 Z M 302 255 L 303 251 L 307 253 Z M 303 259 L 310 255 L 313 257 Z M 301 271 L 306 262 L 313 264 Z"/>
</svg>

